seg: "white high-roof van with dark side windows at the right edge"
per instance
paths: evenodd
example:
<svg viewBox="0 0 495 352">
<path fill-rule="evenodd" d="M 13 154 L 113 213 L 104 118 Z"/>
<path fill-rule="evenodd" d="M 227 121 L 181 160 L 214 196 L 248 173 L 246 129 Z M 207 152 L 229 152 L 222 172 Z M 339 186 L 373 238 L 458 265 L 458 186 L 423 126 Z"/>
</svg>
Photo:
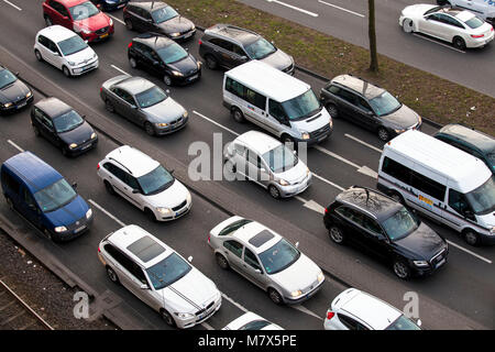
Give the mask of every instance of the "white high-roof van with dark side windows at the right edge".
<svg viewBox="0 0 495 352">
<path fill-rule="evenodd" d="M 419 131 L 386 143 L 377 188 L 459 231 L 495 244 L 495 176 L 483 161 Z"/>
</svg>

